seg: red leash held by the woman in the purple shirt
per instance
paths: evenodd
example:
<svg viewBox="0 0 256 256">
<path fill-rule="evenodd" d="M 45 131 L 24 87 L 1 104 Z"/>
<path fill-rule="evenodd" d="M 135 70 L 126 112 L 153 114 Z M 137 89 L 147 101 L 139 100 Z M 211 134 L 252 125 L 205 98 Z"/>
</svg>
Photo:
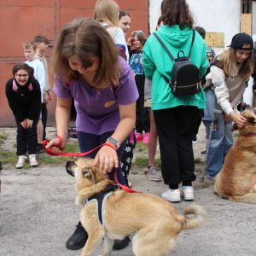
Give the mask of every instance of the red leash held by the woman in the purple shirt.
<svg viewBox="0 0 256 256">
<path fill-rule="evenodd" d="M 45 148 L 45 146 L 46 146 L 48 143 L 49 143 L 49 141 L 43 141 L 42 145 L 43 145 L 44 149 L 46 150 L 46 152 L 47 152 L 49 155 L 53 155 L 53 156 L 57 156 L 57 155 L 61 155 L 61 156 L 77 156 L 77 157 L 79 157 L 79 156 L 84 156 L 84 155 L 86 155 L 86 154 L 90 154 L 91 152 L 93 152 L 93 151 L 96 150 L 97 148 L 101 148 L 101 147 L 104 146 L 104 145 L 113 148 L 113 149 L 115 150 L 116 154 L 117 154 L 116 149 L 115 149 L 111 144 L 109 144 L 109 143 L 103 143 L 102 145 L 100 145 L 100 146 L 98 146 L 98 147 L 96 147 L 96 148 L 94 148 L 94 149 L 92 149 L 92 150 L 90 150 L 90 151 L 88 151 L 88 152 L 84 152 L 84 153 L 61 153 L 61 152 L 55 152 L 55 151 L 51 150 L 50 148 Z M 129 192 L 129 193 L 142 193 L 142 192 L 134 191 L 134 190 L 132 190 L 132 189 L 130 189 L 130 188 L 128 188 L 128 187 L 126 187 L 126 186 L 120 184 L 119 181 L 118 181 L 118 179 L 117 179 L 117 174 L 116 174 L 116 172 L 117 172 L 117 167 L 115 168 L 114 179 L 115 179 L 116 183 L 118 183 L 119 186 L 120 186 L 122 189 L 125 189 L 125 190 L 126 190 L 127 192 Z"/>
</svg>

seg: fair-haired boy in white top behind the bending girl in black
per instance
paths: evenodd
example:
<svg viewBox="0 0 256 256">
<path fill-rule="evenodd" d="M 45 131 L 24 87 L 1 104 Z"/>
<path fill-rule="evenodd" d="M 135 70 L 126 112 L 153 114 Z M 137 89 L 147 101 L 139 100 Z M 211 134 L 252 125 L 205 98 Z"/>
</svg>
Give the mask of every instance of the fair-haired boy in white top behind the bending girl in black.
<svg viewBox="0 0 256 256">
<path fill-rule="evenodd" d="M 37 44 L 32 41 L 27 41 L 23 44 L 24 54 L 26 57 L 25 63 L 34 69 L 34 77 L 38 80 L 41 90 L 41 102 L 44 103 L 44 88 L 45 88 L 45 72 L 44 64 L 35 58 L 37 53 Z M 40 119 L 38 120 L 38 153 L 40 152 L 43 142 L 43 123 L 42 123 L 42 111 L 40 113 Z"/>
</svg>

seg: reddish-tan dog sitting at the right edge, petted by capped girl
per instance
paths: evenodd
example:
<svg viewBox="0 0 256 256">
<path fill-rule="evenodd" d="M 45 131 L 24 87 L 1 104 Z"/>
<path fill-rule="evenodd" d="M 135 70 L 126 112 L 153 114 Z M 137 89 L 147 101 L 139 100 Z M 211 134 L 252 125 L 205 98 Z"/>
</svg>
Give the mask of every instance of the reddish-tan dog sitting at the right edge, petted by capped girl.
<svg viewBox="0 0 256 256">
<path fill-rule="evenodd" d="M 247 119 L 239 129 L 236 144 L 226 155 L 224 166 L 215 178 L 214 188 L 219 197 L 230 201 L 256 204 L 256 115 L 249 110 L 241 113 Z M 237 131 L 236 124 L 231 131 Z"/>
</svg>

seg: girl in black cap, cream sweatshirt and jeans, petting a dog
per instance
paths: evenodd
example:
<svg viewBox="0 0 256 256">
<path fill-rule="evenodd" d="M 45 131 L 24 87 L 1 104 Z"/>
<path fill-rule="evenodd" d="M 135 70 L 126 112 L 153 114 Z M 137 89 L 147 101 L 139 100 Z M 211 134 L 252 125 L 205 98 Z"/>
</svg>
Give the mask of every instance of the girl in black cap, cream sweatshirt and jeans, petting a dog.
<svg viewBox="0 0 256 256">
<path fill-rule="evenodd" d="M 238 33 L 232 38 L 230 49 L 216 56 L 210 73 L 207 75 L 207 84 L 213 84 L 212 90 L 206 90 L 207 108 L 205 117 L 207 127 L 207 143 L 214 100 L 222 114 L 217 114 L 214 121 L 212 140 L 207 159 L 207 175 L 214 178 L 221 170 L 225 155 L 233 145 L 231 125 L 232 120 L 238 128 L 245 125 L 246 119 L 237 115 L 234 108 L 241 101 L 247 80 L 253 73 L 253 39 L 246 33 Z M 214 97 L 214 91 L 215 96 Z"/>
</svg>

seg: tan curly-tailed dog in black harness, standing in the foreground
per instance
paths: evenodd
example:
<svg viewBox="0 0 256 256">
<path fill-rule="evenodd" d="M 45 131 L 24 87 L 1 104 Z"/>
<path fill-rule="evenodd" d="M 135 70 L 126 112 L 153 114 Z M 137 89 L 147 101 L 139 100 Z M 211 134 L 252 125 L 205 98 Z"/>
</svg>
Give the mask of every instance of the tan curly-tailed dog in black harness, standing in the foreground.
<svg viewBox="0 0 256 256">
<path fill-rule="evenodd" d="M 98 171 L 98 166 L 91 166 L 92 162 L 92 159 L 84 157 L 75 162 L 67 161 L 67 172 L 77 179 L 77 205 L 113 184 L 107 174 Z M 207 212 L 201 206 L 186 207 L 184 214 L 195 214 L 195 217 L 179 215 L 170 202 L 158 196 L 116 190 L 108 196 L 105 204 L 105 228 L 97 218 L 96 202 L 91 202 L 81 211 L 81 223 L 89 235 L 81 255 L 90 255 L 104 237 L 102 256 L 109 256 L 114 239 L 124 239 L 135 231 L 132 240 L 135 255 L 166 255 L 175 247 L 181 230 L 199 228 L 207 222 Z"/>
</svg>

